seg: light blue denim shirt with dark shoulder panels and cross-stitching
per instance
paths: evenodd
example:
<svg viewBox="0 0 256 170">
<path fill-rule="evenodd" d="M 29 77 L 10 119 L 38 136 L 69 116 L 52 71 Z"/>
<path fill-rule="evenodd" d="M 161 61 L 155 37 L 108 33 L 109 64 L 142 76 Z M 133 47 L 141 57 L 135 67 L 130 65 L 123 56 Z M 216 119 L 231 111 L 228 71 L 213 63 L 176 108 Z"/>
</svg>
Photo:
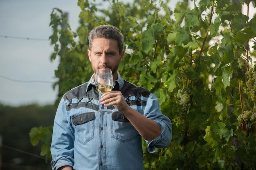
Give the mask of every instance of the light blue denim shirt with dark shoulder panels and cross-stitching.
<svg viewBox="0 0 256 170">
<path fill-rule="evenodd" d="M 124 81 L 118 73 L 113 91 L 121 91 L 127 104 L 154 120 L 161 135 L 146 141 L 148 152 L 171 143 L 172 126 L 160 111 L 157 97 L 148 90 Z M 53 170 L 71 166 L 74 170 L 143 170 L 141 136 L 126 116 L 113 106 L 112 114 L 97 111 L 101 95 L 93 75 L 89 82 L 63 95 L 54 119 L 51 144 Z"/>
</svg>

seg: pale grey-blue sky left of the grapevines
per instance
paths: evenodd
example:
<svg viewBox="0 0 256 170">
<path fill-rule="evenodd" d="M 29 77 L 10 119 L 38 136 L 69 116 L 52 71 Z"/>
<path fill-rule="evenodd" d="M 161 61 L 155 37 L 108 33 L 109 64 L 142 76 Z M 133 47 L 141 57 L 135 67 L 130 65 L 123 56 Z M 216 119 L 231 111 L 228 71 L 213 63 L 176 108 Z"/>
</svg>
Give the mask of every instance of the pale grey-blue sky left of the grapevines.
<svg viewBox="0 0 256 170">
<path fill-rule="evenodd" d="M 172 10 L 178 1 L 171 1 Z M 57 81 L 58 60 L 50 61 L 54 47 L 49 23 L 55 7 L 68 13 L 76 31 L 81 12 L 77 0 L 0 0 L 0 103 L 54 104 L 57 88 L 52 85 Z"/>
</svg>

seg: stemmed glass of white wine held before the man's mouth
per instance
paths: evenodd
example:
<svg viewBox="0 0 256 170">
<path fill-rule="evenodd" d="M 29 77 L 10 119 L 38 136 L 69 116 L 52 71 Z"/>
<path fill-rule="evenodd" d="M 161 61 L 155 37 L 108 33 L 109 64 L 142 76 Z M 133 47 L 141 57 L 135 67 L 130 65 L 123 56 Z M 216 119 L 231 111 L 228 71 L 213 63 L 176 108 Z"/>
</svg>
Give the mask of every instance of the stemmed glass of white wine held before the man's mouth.
<svg viewBox="0 0 256 170">
<path fill-rule="evenodd" d="M 112 71 L 109 68 L 99 68 L 96 72 L 95 84 L 101 95 L 111 91 L 114 87 Z M 99 113 L 107 115 L 113 113 L 113 110 L 104 106 L 104 109 L 99 108 Z"/>
</svg>

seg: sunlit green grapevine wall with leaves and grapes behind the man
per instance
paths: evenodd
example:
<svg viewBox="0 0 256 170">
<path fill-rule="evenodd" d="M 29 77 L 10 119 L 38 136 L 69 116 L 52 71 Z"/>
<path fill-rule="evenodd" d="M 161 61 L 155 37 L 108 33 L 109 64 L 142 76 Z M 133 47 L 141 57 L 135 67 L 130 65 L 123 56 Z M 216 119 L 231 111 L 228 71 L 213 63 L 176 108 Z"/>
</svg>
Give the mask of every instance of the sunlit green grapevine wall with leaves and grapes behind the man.
<svg viewBox="0 0 256 170">
<path fill-rule="evenodd" d="M 126 45 L 119 72 L 154 93 L 173 122 L 168 148 L 149 154 L 145 144 L 145 170 L 256 169 L 256 18 L 241 12 L 256 1 L 194 0 L 192 9 L 180 2 L 174 11 L 169 0 L 107 2 L 109 8 L 100 9 L 78 0 L 77 31 L 60 9 L 52 11 L 59 97 L 92 75 L 90 30 L 117 26 Z"/>
</svg>

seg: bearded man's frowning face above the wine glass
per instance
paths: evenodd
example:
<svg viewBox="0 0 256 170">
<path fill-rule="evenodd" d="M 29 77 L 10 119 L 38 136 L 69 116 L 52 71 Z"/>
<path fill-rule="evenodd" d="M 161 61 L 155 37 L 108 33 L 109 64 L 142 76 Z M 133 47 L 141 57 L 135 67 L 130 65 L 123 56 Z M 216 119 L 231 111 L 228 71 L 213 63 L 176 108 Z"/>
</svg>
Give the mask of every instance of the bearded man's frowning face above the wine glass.
<svg viewBox="0 0 256 170">
<path fill-rule="evenodd" d="M 95 38 L 92 41 L 88 57 L 92 63 L 92 69 L 96 73 L 98 68 L 107 67 L 112 70 L 113 78 L 117 79 L 119 62 L 123 60 L 124 50 L 119 54 L 117 40 L 107 38 Z"/>
</svg>

